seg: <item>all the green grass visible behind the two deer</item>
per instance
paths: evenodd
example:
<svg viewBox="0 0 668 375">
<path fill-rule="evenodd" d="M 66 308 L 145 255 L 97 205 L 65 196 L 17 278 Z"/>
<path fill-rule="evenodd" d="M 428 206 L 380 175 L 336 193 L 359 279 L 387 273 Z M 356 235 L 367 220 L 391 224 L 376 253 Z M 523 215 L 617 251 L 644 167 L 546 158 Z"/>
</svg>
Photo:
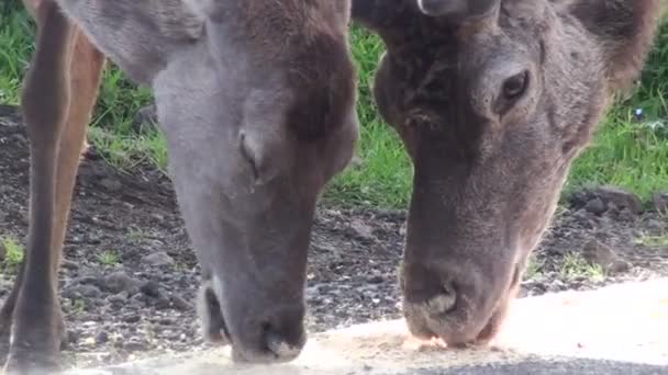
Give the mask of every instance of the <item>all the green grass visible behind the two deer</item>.
<svg viewBox="0 0 668 375">
<path fill-rule="evenodd" d="M 15 5 L 0 5 L 0 102 L 18 104 L 19 89 L 33 52 L 33 24 Z M 4 8 L 4 9 L 3 9 Z M 404 207 L 410 197 L 412 166 L 392 129 L 379 117 L 370 86 L 380 54 L 379 39 L 354 27 L 354 58 L 359 67 L 359 158 L 330 183 L 329 202 L 345 205 Z M 668 186 L 668 25 L 661 30 L 642 80 L 631 99 L 616 104 L 597 132 L 593 144 L 575 162 L 565 193 L 584 185 L 613 184 L 647 198 Z M 166 168 L 166 143 L 159 132 L 136 135 L 132 122 L 151 102 L 147 89 L 130 83 L 115 67 L 107 69 L 90 132 L 102 156 L 120 169 L 142 161 Z M 646 122 L 636 122 L 642 107 Z M 649 124 L 658 124 L 652 128 Z"/>
</svg>

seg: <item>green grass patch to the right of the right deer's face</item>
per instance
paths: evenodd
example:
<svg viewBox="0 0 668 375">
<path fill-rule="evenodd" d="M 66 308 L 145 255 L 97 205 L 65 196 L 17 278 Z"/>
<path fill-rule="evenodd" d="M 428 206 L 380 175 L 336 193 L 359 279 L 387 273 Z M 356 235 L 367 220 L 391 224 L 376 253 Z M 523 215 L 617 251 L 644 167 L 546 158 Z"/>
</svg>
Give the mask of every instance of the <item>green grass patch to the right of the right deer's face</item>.
<svg viewBox="0 0 668 375">
<path fill-rule="evenodd" d="M 632 98 L 617 103 L 576 160 L 566 190 L 612 184 L 648 200 L 668 186 L 668 23 Z M 642 109 L 644 118 L 635 117 Z"/>
</svg>

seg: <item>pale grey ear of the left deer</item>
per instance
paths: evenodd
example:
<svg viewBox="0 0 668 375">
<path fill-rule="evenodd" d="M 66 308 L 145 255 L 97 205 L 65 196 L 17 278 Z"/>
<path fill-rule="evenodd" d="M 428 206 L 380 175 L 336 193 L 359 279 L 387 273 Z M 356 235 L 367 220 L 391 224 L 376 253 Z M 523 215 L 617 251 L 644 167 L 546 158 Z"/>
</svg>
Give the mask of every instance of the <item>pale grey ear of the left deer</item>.
<svg viewBox="0 0 668 375">
<path fill-rule="evenodd" d="M 203 35 L 190 0 L 56 0 L 91 42 L 127 76 L 151 83 L 172 54 Z"/>
</svg>

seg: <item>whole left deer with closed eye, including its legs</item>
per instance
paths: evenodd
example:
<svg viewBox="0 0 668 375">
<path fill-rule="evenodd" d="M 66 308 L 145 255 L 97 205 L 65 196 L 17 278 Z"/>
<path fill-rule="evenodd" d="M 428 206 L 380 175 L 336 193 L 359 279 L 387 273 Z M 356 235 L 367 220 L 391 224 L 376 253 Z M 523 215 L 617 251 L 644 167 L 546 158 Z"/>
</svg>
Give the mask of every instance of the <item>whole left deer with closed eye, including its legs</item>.
<svg viewBox="0 0 668 375">
<path fill-rule="evenodd" d="M 349 1 L 23 2 L 37 24 L 21 94 L 30 225 L 0 309 L 7 373 L 63 367 L 57 274 L 108 61 L 153 89 L 201 265 L 203 334 L 238 362 L 297 357 L 316 201 L 358 138 Z"/>
</svg>

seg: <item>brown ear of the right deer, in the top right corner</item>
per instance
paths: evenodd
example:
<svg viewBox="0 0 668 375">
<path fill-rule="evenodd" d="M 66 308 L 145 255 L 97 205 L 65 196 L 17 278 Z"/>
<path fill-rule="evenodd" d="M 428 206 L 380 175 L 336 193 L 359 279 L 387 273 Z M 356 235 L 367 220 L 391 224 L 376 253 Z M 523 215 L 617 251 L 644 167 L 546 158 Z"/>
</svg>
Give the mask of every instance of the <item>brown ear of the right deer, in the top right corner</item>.
<svg viewBox="0 0 668 375">
<path fill-rule="evenodd" d="M 570 12 L 603 46 L 611 89 L 638 76 L 658 26 L 660 0 L 572 0 Z"/>
</svg>

